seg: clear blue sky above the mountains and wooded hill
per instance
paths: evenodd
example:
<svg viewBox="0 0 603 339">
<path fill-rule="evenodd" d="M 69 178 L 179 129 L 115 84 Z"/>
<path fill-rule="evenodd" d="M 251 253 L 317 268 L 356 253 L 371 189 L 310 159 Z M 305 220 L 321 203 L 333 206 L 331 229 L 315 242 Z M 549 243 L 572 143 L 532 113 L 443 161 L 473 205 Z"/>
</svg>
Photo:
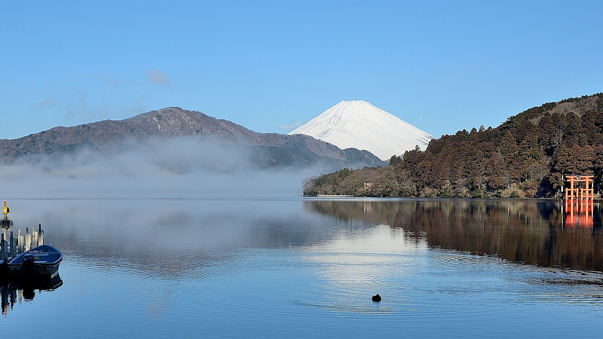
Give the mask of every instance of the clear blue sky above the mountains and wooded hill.
<svg viewBox="0 0 603 339">
<path fill-rule="evenodd" d="M 0 139 L 167 106 L 286 133 L 341 100 L 435 136 L 496 126 L 603 91 L 601 13 L 574 1 L 1 1 Z"/>
</svg>

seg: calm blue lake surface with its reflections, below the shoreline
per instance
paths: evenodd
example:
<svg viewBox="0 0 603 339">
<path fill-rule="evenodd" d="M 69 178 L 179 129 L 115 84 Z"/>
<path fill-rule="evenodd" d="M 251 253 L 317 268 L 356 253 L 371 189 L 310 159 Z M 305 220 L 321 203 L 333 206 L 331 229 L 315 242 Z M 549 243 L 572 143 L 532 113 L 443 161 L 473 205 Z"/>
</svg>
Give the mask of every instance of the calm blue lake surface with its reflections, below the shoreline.
<svg viewBox="0 0 603 339">
<path fill-rule="evenodd" d="M 550 338 L 603 329 L 598 203 L 571 213 L 551 200 L 9 206 L 14 230 L 42 223 L 65 258 L 55 290 L 2 290 L 2 329 L 67 338 Z"/>
</svg>

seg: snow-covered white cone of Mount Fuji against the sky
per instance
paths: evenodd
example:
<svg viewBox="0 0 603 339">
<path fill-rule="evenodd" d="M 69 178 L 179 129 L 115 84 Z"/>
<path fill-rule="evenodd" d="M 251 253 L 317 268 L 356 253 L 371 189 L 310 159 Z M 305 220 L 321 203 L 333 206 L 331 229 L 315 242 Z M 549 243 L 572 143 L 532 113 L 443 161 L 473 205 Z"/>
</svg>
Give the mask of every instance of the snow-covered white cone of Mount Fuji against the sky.
<svg viewBox="0 0 603 339">
<path fill-rule="evenodd" d="M 341 148 L 367 150 L 382 160 L 419 145 L 423 150 L 434 136 L 367 101 L 341 101 L 289 133 L 305 134 Z"/>
</svg>

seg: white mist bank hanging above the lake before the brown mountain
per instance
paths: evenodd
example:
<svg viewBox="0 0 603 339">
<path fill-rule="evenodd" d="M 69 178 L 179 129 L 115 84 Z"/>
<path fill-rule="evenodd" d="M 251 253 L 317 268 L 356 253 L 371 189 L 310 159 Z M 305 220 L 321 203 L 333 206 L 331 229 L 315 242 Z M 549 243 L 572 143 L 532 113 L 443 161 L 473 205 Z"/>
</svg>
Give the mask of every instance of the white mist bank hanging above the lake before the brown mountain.
<svg viewBox="0 0 603 339">
<path fill-rule="evenodd" d="M 0 186 L 4 197 L 298 195 L 301 180 L 321 170 L 270 166 L 262 148 L 154 139 L 29 156 L 0 165 Z"/>
</svg>

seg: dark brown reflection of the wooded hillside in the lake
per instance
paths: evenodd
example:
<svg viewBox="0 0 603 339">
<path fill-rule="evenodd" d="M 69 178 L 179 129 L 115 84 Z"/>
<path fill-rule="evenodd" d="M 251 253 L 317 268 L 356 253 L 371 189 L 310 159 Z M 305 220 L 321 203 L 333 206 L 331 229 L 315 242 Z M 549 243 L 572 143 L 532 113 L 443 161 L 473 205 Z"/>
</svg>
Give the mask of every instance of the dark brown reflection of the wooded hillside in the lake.
<svg viewBox="0 0 603 339">
<path fill-rule="evenodd" d="M 603 271 L 601 209 L 595 227 L 564 227 L 557 201 L 306 201 L 308 211 L 340 220 L 388 223 L 431 246 L 498 254 L 544 267 Z"/>
</svg>

